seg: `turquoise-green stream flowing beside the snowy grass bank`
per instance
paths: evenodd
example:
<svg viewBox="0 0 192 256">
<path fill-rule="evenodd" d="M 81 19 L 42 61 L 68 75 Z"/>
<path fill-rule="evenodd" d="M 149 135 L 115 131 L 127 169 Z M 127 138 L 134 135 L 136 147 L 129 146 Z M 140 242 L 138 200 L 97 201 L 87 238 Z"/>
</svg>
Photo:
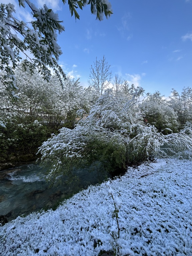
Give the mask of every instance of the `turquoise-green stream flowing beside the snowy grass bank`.
<svg viewBox="0 0 192 256">
<path fill-rule="evenodd" d="M 99 182 L 97 171 L 78 170 L 79 181 L 49 188 L 43 170 L 31 163 L 5 170 L 9 178 L 0 180 L 0 215 L 8 221 L 42 208 L 52 208 L 58 200 Z"/>
</svg>

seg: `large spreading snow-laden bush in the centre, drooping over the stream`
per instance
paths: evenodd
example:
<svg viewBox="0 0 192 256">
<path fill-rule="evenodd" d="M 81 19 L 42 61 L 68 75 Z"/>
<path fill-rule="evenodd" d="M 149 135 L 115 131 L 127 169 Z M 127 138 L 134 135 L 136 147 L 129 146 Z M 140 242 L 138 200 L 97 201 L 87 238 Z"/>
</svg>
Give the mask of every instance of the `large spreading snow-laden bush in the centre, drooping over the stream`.
<svg viewBox="0 0 192 256">
<path fill-rule="evenodd" d="M 44 142 L 39 149 L 41 161 L 48 167 L 47 180 L 58 177 L 71 181 L 78 168 L 95 166 L 99 171 L 120 173 L 126 166 L 141 164 L 173 152 L 188 156 L 192 149 L 192 129 L 188 124 L 180 133 L 163 135 L 145 124 L 139 115 L 142 88 L 129 90 L 129 97 L 106 90 L 73 129 L 62 128 L 60 133 Z M 83 113 L 79 111 L 78 114 Z M 169 129 L 170 130 L 170 129 Z M 166 149 L 162 148 L 166 145 Z"/>
</svg>

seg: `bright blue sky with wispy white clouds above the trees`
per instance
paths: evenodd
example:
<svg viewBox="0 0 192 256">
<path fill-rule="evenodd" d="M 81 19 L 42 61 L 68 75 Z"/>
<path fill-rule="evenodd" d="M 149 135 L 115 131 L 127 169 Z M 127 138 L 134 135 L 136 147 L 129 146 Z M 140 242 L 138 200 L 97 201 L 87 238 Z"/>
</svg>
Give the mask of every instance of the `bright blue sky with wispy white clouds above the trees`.
<svg viewBox="0 0 192 256">
<path fill-rule="evenodd" d="M 172 88 L 192 87 L 192 0 L 110 2 L 109 19 L 96 20 L 86 6 L 75 21 L 67 3 L 46 1 L 65 26 L 58 36 L 64 71 L 86 86 L 91 65 L 105 55 L 113 76 L 119 73 L 146 92 L 169 96 Z M 44 3 L 36 1 L 39 7 Z"/>
</svg>

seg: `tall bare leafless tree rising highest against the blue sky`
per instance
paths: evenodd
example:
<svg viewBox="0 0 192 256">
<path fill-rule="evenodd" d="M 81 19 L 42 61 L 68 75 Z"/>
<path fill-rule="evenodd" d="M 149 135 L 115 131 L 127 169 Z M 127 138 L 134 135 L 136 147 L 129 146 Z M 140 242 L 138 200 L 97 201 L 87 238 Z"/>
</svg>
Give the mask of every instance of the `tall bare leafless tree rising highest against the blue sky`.
<svg viewBox="0 0 192 256">
<path fill-rule="evenodd" d="M 91 65 L 90 76 L 88 84 L 95 88 L 98 96 L 101 96 L 105 89 L 109 87 L 111 83 L 112 73 L 110 71 L 110 65 L 103 56 L 103 59 L 94 62 L 94 66 Z"/>
</svg>

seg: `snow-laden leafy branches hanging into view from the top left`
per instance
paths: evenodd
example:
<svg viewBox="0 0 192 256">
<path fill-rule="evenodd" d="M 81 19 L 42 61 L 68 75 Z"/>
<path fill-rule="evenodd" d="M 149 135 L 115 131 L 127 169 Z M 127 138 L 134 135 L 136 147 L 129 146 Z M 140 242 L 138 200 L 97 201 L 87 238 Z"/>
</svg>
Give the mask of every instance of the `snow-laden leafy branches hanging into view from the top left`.
<svg viewBox="0 0 192 256">
<path fill-rule="evenodd" d="M 64 31 L 58 15 L 46 5 L 38 9 L 29 0 L 18 0 L 18 4 L 21 8 L 27 5 L 31 9 L 30 23 L 15 17 L 13 4 L 0 4 L 0 70 L 5 71 L 0 73 L 0 80 L 13 95 L 13 89 L 17 88 L 15 69 L 21 60 L 21 52 L 26 55 L 23 66 L 28 67 L 31 73 L 38 68 L 44 79 L 49 80 L 51 76 L 47 68 L 49 66 L 58 75 L 60 82 L 65 78 L 57 62 L 62 54 L 57 44 L 57 32 Z M 91 13 L 96 14 L 99 20 L 102 19 L 103 14 L 106 17 L 112 14 L 108 0 L 68 0 L 71 15 L 74 14 L 75 18 L 79 19 L 76 9 L 78 7 L 82 9 L 85 4 L 90 4 Z M 30 57 L 28 52 L 32 53 L 33 57 Z"/>
</svg>

